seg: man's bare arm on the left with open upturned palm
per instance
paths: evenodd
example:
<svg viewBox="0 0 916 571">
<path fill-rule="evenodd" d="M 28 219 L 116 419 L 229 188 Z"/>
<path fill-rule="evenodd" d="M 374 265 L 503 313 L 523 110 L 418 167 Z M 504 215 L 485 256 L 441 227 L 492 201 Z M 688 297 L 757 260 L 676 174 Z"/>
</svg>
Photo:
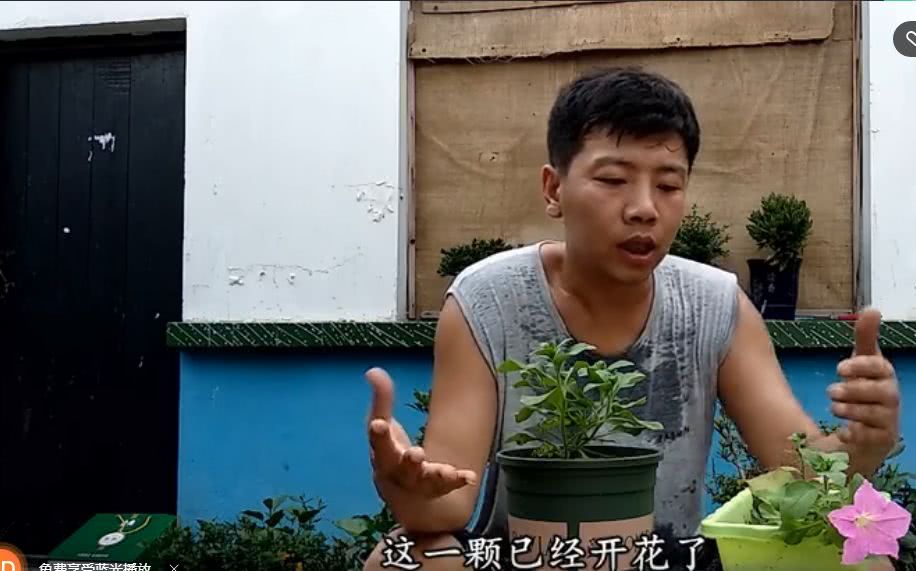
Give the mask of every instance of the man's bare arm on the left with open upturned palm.
<svg viewBox="0 0 916 571">
<path fill-rule="evenodd" d="M 423 446 L 405 450 L 409 443 L 398 444 L 406 442 L 403 434 L 371 437 L 376 488 L 408 533 L 451 532 L 468 523 L 480 486 L 464 484 L 461 474 L 470 470 L 480 482 L 496 425 L 493 374 L 451 297 L 439 315 L 433 353 Z M 401 429 L 390 418 L 393 387 L 384 377 L 373 381 L 373 414 L 394 434 Z"/>
</svg>

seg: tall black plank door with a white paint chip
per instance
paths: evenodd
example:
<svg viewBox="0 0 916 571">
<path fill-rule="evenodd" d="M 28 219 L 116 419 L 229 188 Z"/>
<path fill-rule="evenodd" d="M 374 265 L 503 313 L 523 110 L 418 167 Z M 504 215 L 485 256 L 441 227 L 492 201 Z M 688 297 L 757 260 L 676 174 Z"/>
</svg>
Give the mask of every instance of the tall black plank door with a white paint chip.
<svg viewBox="0 0 916 571">
<path fill-rule="evenodd" d="M 184 36 L 0 48 L 0 541 L 175 513 Z"/>
</svg>

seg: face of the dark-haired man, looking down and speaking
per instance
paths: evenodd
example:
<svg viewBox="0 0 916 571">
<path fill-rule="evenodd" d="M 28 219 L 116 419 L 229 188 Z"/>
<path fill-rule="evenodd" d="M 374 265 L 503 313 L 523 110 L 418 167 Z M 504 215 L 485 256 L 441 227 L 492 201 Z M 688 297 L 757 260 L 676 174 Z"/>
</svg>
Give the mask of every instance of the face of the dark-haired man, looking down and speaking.
<svg viewBox="0 0 916 571">
<path fill-rule="evenodd" d="M 642 139 L 595 133 L 565 176 L 544 170 L 548 214 L 559 213 L 566 243 L 622 283 L 646 280 L 684 215 L 687 153 L 676 134 Z"/>
</svg>

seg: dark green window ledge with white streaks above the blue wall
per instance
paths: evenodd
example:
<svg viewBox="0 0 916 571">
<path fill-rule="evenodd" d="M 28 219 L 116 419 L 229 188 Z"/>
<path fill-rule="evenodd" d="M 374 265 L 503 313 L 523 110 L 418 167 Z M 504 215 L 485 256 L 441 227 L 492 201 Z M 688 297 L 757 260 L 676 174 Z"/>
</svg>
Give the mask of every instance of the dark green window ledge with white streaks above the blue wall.
<svg viewBox="0 0 916 571">
<path fill-rule="evenodd" d="M 852 348 L 846 321 L 769 321 L 777 349 Z M 317 323 L 170 323 L 168 345 L 178 349 L 308 349 L 432 347 L 435 321 Z M 916 349 L 916 322 L 890 321 L 881 328 L 884 349 Z"/>
</svg>

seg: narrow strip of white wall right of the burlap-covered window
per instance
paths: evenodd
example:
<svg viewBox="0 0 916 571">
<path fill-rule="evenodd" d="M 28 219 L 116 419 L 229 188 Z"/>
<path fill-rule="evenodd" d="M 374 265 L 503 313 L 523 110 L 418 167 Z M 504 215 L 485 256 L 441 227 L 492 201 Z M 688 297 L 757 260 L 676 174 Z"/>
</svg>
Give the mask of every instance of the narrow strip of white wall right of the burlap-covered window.
<svg viewBox="0 0 916 571">
<path fill-rule="evenodd" d="M 916 2 L 864 2 L 863 183 L 866 300 L 885 319 L 916 319 L 916 58 L 894 30 Z"/>
</svg>

